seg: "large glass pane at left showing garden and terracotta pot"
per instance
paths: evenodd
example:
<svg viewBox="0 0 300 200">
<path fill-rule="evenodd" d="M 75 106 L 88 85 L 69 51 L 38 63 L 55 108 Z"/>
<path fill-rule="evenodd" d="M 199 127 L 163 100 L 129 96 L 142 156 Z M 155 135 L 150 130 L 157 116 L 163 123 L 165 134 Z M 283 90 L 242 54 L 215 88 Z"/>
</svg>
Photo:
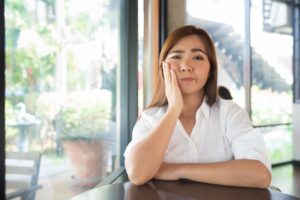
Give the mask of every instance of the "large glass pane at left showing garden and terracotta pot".
<svg viewBox="0 0 300 200">
<path fill-rule="evenodd" d="M 36 199 L 69 199 L 118 167 L 119 11 L 118 0 L 5 1 L 6 151 L 42 153 Z"/>
</svg>

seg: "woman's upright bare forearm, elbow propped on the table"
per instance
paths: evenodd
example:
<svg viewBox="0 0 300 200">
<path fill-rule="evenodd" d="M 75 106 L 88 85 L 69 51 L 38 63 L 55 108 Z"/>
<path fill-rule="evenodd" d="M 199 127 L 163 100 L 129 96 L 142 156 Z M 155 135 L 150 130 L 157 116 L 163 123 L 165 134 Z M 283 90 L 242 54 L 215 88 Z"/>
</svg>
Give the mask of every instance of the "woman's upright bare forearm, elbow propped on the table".
<svg viewBox="0 0 300 200">
<path fill-rule="evenodd" d="M 146 138 L 135 144 L 125 159 L 129 179 L 136 185 L 144 184 L 158 171 L 174 127 L 176 111 L 168 110 L 158 126 Z"/>
</svg>

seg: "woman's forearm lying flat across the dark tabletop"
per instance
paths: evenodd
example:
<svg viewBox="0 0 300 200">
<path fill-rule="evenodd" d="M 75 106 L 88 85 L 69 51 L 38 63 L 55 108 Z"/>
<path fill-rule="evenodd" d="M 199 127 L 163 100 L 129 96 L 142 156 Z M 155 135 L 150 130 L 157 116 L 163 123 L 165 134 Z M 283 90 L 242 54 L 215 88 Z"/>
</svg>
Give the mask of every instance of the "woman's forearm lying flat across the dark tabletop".
<svg viewBox="0 0 300 200">
<path fill-rule="evenodd" d="M 219 185 L 267 188 L 271 182 L 269 170 L 257 160 L 179 164 L 178 170 L 180 178 Z"/>
</svg>

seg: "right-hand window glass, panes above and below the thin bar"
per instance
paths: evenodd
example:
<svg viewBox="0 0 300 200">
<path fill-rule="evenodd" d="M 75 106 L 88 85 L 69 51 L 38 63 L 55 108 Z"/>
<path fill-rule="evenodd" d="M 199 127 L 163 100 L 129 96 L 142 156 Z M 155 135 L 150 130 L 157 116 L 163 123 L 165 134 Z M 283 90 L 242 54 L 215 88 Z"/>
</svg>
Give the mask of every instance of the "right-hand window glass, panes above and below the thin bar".
<svg viewBox="0 0 300 200">
<path fill-rule="evenodd" d="M 251 5 L 252 123 L 288 124 L 293 103 L 291 11 L 283 3 L 252 0 Z M 261 132 L 272 163 L 292 160 L 291 125 L 269 126 Z"/>
</svg>

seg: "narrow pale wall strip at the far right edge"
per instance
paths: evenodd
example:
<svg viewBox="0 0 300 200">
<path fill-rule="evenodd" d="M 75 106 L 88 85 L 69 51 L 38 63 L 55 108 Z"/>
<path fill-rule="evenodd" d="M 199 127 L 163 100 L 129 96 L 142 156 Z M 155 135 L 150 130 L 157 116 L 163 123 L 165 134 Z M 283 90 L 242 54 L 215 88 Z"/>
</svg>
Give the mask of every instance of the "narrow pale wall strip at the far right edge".
<svg viewBox="0 0 300 200">
<path fill-rule="evenodd" d="M 294 160 L 300 161 L 300 104 L 293 106 L 293 128 Z"/>
</svg>

